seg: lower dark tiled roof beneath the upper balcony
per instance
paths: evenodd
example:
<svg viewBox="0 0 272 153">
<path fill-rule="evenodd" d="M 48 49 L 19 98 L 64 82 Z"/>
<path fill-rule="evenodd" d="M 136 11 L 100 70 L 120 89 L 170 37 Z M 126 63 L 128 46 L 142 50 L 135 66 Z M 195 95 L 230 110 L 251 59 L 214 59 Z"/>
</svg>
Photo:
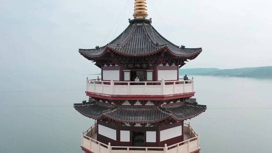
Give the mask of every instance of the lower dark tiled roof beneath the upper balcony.
<svg viewBox="0 0 272 153">
<path fill-rule="evenodd" d="M 164 120 L 183 121 L 205 112 L 205 105 L 198 105 L 195 99 L 163 106 L 124 106 L 111 105 L 97 101 L 74 104 L 82 115 L 100 120 L 110 119 L 120 123 L 156 123 Z"/>
</svg>

